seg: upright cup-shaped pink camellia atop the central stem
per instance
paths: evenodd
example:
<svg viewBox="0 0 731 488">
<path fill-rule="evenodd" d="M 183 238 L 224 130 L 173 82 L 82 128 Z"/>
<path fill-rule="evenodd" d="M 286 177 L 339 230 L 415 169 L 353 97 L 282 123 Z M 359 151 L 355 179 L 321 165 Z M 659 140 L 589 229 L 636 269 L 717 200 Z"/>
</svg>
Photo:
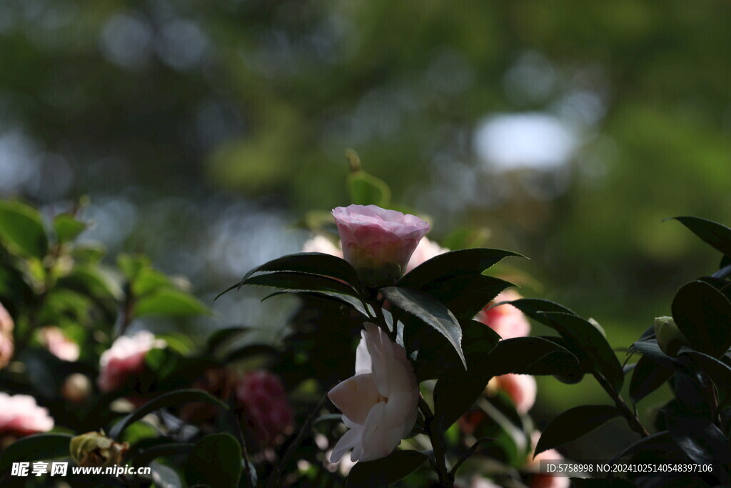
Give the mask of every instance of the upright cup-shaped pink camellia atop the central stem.
<svg viewBox="0 0 731 488">
<path fill-rule="evenodd" d="M 375 205 L 333 209 L 343 255 L 368 286 L 393 285 L 404 274 L 428 223 Z"/>
</svg>

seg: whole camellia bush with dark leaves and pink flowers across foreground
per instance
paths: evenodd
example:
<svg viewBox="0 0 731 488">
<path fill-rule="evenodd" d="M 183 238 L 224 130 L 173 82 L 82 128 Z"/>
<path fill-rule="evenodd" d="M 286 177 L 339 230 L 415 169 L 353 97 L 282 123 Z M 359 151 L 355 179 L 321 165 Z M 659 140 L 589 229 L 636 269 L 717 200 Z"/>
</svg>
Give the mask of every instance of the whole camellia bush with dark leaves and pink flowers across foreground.
<svg viewBox="0 0 731 488">
<path fill-rule="evenodd" d="M 494 274 L 517 252 L 469 229 L 430 241 L 357 166 L 349 189 L 354 204 L 303 220 L 315 233 L 303 252 L 223 292 L 298 297 L 267 344 L 251 324 L 190 340 L 175 324 L 210 311 L 185 283 L 142 256 L 102 260 L 77 242 L 76 209 L 44 219 L 0 203 L 0 482 L 26 462 L 27 486 L 731 483 L 730 228 L 677 217 L 721 253 L 719 271 L 683 285 L 618 356 L 595 320 Z M 531 320 L 556 334 L 532 337 Z M 591 376 L 605 401 L 539 432 L 535 375 Z M 635 406 L 665 384 L 672 399 L 643 425 Z M 599 473 L 556 450 L 613 418 L 637 440 L 603 462 L 645 468 Z M 551 476 L 541 461 L 572 468 Z M 53 462 L 68 473 L 44 470 Z"/>
</svg>

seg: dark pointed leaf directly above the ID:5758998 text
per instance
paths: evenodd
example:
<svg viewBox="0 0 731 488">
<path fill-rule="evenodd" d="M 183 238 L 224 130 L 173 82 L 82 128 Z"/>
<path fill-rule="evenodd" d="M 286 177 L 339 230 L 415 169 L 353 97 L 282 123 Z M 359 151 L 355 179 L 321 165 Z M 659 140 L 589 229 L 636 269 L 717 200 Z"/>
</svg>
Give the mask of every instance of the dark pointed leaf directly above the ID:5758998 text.
<svg viewBox="0 0 731 488">
<path fill-rule="evenodd" d="M 583 405 L 566 410 L 545 428 L 534 455 L 578 439 L 619 415 L 613 405 Z"/>
</svg>

